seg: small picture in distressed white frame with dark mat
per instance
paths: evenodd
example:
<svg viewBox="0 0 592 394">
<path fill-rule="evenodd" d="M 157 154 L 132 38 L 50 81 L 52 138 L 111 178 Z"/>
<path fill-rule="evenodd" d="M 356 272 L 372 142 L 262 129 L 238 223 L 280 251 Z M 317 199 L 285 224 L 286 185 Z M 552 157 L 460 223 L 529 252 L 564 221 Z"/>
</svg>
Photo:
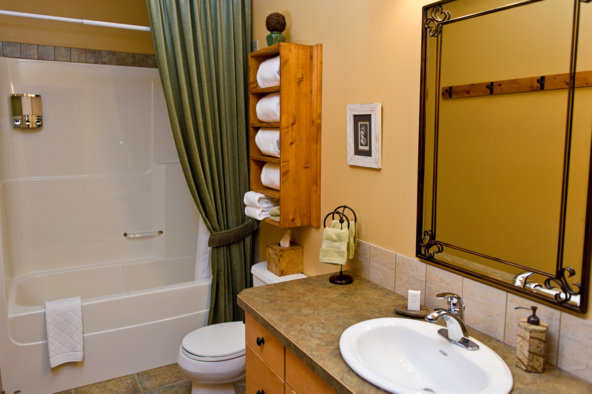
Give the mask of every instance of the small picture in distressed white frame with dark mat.
<svg viewBox="0 0 592 394">
<path fill-rule="evenodd" d="M 382 168 L 381 103 L 348 105 L 348 164 Z"/>
</svg>

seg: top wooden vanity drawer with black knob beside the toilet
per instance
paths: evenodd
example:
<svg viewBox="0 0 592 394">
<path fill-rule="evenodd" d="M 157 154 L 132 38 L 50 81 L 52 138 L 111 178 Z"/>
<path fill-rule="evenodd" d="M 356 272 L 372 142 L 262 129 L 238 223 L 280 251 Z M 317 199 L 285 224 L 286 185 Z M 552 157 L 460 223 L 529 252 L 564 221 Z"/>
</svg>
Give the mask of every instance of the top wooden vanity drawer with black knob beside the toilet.
<svg viewBox="0 0 592 394">
<path fill-rule="evenodd" d="M 244 328 L 246 343 L 284 380 L 284 345 L 269 334 L 265 328 L 261 327 L 250 315 L 246 314 L 244 320 L 246 324 Z M 263 343 L 261 340 L 263 340 Z"/>
</svg>

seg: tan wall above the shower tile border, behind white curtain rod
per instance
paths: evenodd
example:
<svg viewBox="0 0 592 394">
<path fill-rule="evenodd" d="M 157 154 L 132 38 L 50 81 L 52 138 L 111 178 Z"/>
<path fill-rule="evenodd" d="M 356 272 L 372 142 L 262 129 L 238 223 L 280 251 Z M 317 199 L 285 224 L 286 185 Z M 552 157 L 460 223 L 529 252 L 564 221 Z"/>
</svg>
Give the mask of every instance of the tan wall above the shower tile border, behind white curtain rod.
<svg viewBox="0 0 592 394">
<path fill-rule="evenodd" d="M 0 9 L 102 22 L 149 25 L 144 0 L 0 0 Z M 0 15 L 0 41 L 154 53 L 150 32 L 4 15 Z"/>
</svg>

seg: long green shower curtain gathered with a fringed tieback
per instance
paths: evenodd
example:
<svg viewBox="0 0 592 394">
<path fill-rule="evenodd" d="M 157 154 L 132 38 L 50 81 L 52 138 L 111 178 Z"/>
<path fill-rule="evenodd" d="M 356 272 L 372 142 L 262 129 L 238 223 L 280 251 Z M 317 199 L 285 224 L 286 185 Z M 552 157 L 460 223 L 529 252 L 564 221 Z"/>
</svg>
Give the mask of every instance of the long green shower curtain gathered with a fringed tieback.
<svg viewBox="0 0 592 394">
<path fill-rule="evenodd" d="M 244 216 L 250 0 L 146 0 L 175 144 L 213 246 L 208 324 L 242 320 L 255 220 Z"/>
</svg>

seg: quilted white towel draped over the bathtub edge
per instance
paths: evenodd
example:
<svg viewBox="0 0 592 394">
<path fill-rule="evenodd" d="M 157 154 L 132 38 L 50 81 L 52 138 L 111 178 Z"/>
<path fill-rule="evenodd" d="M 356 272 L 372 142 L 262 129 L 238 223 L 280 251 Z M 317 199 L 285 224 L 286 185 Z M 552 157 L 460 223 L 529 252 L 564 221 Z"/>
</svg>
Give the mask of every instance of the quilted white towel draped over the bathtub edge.
<svg viewBox="0 0 592 394">
<path fill-rule="evenodd" d="M 82 361 L 82 299 L 80 297 L 58 299 L 45 303 L 45 327 L 49 365 Z"/>
</svg>

